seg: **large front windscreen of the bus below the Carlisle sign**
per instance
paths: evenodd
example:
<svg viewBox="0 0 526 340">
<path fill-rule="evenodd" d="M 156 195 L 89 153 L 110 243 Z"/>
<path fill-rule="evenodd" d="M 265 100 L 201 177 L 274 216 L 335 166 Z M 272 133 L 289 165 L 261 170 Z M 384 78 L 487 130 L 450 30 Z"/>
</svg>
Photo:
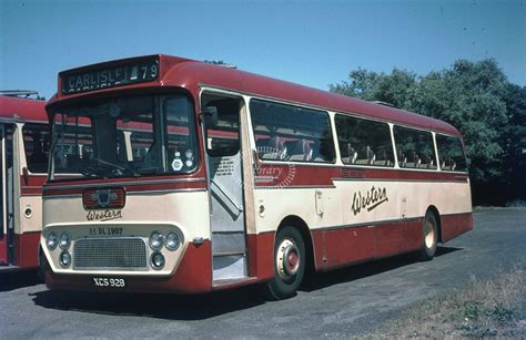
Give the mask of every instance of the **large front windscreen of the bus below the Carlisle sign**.
<svg viewBox="0 0 526 340">
<path fill-rule="evenodd" d="M 54 113 L 50 179 L 189 173 L 198 165 L 192 102 L 182 94 L 122 96 Z M 71 176 L 68 176 L 71 178 Z"/>
</svg>

